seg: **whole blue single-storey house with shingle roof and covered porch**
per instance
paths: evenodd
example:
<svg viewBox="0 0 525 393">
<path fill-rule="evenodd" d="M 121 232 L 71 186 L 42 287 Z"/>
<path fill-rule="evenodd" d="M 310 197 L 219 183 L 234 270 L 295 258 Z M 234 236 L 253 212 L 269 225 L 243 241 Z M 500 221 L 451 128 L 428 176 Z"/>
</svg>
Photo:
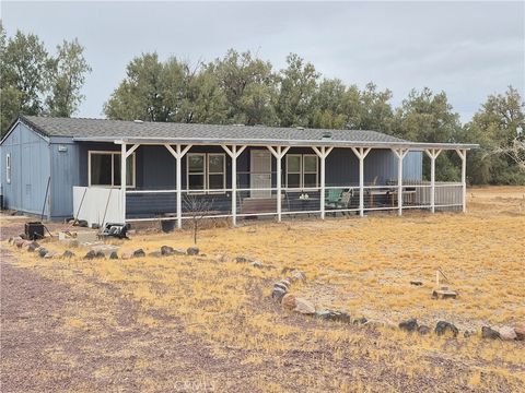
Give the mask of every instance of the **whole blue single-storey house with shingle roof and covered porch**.
<svg viewBox="0 0 525 393">
<path fill-rule="evenodd" d="M 171 219 L 180 227 L 202 200 L 205 216 L 233 224 L 262 215 L 465 211 L 474 147 L 363 130 L 21 116 L 0 143 L 1 187 L 8 209 L 90 224 Z M 444 150 L 462 158 L 460 182 L 435 179 Z"/>
</svg>

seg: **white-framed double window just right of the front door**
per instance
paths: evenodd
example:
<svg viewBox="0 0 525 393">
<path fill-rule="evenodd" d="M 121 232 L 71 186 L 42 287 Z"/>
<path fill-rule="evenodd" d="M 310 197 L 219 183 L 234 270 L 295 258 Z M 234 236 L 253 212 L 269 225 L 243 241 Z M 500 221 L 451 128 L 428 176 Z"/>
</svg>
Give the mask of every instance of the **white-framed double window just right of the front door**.
<svg viewBox="0 0 525 393">
<path fill-rule="evenodd" d="M 301 190 L 319 186 L 319 163 L 315 154 L 287 154 L 287 188 Z"/>
</svg>

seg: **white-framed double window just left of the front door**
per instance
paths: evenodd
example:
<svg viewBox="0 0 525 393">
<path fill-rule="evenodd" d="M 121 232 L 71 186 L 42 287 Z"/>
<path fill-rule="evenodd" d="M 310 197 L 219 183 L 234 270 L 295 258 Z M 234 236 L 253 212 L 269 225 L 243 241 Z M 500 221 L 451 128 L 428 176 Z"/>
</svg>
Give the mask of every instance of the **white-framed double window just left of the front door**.
<svg viewBox="0 0 525 393">
<path fill-rule="evenodd" d="M 224 153 L 188 153 L 186 159 L 188 190 L 191 190 L 192 193 L 225 192 L 226 156 Z"/>
</svg>

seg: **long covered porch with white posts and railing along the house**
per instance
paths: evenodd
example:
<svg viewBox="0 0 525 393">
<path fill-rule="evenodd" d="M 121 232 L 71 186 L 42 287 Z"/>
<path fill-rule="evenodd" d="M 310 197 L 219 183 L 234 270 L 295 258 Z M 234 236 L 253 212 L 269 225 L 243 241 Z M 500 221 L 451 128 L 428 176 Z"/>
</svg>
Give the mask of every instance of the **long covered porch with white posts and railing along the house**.
<svg viewBox="0 0 525 393">
<path fill-rule="evenodd" d="M 196 216 L 228 217 L 236 225 L 258 216 L 281 222 L 302 215 L 466 211 L 467 148 L 462 146 L 82 142 L 86 178 L 73 188 L 73 211 L 90 225 L 175 221 L 180 228 Z M 457 152 L 460 181 L 435 178 L 435 160 L 444 150 Z M 422 176 L 423 155 L 430 159 L 429 180 Z M 101 163 L 110 166 L 110 175 L 97 169 Z"/>
</svg>

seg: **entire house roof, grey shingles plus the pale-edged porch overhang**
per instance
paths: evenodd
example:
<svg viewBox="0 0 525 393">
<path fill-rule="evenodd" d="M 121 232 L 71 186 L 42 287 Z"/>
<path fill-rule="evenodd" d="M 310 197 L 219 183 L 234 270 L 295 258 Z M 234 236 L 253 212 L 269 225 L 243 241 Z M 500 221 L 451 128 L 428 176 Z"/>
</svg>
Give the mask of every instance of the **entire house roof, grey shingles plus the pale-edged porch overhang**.
<svg viewBox="0 0 525 393">
<path fill-rule="evenodd" d="M 74 141 L 130 144 L 287 145 L 377 148 L 476 148 L 476 144 L 405 141 L 370 130 L 327 130 L 265 126 L 219 126 L 174 122 L 140 122 L 107 119 L 21 116 L 20 120 L 46 136 Z"/>
</svg>

